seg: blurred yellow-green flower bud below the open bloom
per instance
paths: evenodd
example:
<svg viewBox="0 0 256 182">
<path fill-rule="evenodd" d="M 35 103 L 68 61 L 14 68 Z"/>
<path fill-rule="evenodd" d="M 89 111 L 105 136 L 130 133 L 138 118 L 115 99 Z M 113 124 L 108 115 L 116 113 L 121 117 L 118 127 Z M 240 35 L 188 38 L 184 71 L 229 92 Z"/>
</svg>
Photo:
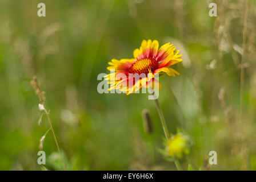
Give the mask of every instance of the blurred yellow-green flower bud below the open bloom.
<svg viewBox="0 0 256 182">
<path fill-rule="evenodd" d="M 174 135 L 167 141 L 166 151 L 170 157 L 182 158 L 190 152 L 189 139 L 181 133 Z"/>
</svg>

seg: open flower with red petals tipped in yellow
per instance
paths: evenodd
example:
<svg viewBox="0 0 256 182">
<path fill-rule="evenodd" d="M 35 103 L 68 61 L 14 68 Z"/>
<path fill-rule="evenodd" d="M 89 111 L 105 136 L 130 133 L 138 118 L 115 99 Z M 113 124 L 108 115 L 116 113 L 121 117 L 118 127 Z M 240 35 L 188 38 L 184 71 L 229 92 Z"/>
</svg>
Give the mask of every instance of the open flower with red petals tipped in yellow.
<svg viewBox="0 0 256 182">
<path fill-rule="evenodd" d="M 109 62 L 110 67 L 107 67 L 107 69 L 114 72 L 111 72 L 105 78 L 109 80 L 109 90 L 119 89 L 129 94 L 149 86 L 153 89 L 155 86 L 160 88 L 161 85 L 154 78 L 155 74 L 166 72 L 167 75 L 173 77 L 179 75 L 177 71 L 169 68 L 169 66 L 182 61 L 180 58 L 182 55 L 178 54 L 179 50 L 175 51 L 175 47 L 170 43 L 166 43 L 158 48 L 159 43 L 157 40 L 153 40 L 153 42 L 151 40 L 143 40 L 141 47 L 133 51 L 134 58 L 112 59 Z M 144 76 L 135 79 L 134 74 Z"/>
</svg>

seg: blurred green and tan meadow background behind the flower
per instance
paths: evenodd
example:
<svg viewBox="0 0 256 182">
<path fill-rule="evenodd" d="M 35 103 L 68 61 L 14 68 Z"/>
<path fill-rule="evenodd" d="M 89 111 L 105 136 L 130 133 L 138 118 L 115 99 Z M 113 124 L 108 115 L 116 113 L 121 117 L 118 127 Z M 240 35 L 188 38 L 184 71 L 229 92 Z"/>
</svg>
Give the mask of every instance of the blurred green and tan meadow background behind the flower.
<svg viewBox="0 0 256 182">
<path fill-rule="evenodd" d="M 46 17 L 37 16 L 40 2 Z M 147 94 L 97 92 L 108 61 L 131 58 L 143 39 L 157 39 L 183 55 L 174 66 L 181 75 L 160 78 L 159 102 L 170 133 L 181 129 L 193 142 L 190 163 L 255 170 L 256 1 L 247 10 L 246 1 L 214 1 L 217 17 L 209 16 L 211 2 L 1 0 L 0 169 L 42 169 L 37 152 L 49 123 L 43 115 L 38 126 L 33 76 L 46 93 L 67 169 L 175 169 L 158 152 L 164 134 Z M 150 111 L 152 135 L 143 129 L 143 109 Z M 208 163 L 212 150 L 217 165 Z M 63 169 L 50 132 L 43 151 L 47 169 Z M 187 169 L 186 159 L 181 164 Z"/>
</svg>

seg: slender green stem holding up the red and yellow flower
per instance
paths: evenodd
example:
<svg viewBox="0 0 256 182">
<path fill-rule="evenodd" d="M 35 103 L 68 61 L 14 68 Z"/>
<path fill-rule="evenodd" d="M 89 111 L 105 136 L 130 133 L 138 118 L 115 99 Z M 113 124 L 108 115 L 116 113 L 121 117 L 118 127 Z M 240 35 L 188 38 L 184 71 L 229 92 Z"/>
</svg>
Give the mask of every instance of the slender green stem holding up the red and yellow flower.
<svg viewBox="0 0 256 182">
<path fill-rule="evenodd" d="M 161 120 L 161 123 L 162 123 L 163 132 L 165 133 L 165 138 L 167 140 L 169 140 L 170 139 L 169 131 L 167 129 L 167 125 L 166 125 L 166 122 L 165 122 L 165 117 L 163 116 L 163 111 L 161 109 L 161 106 L 160 106 L 159 101 L 158 101 L 157 98 L 155 98 L 155 105 L 157 106 L 157 111 L 158 111 L 158 114 L 159 114 L 159 117 L 160 117 L 160 120 Z M 174 158 L 174 163 L 175 163 L 175 166 L 178 169 L 178 171 L 181 171 L 182 168 L 181 168 L 181 164 L 179 164 L 179 160 Z"/>
</svg>

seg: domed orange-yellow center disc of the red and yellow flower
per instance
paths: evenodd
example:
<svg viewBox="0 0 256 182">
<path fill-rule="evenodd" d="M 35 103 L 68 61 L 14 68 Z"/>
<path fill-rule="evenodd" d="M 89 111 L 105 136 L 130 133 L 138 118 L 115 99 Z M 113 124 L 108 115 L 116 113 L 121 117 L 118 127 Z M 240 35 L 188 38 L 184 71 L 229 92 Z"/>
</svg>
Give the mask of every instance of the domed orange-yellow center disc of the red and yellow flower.
<svg viewBox="0 0 256 182">
<path fill-rule="evenodd" d="M 147 74 L 149 73 L 149 71 L 154 72 L 157 66 L 158 64 L 155 60 L 150 60 L 150 59 L 136 60 L 129 68 L 129 73 L 138 73 L 139 75 L 141 73 Z"/>
</svg>

